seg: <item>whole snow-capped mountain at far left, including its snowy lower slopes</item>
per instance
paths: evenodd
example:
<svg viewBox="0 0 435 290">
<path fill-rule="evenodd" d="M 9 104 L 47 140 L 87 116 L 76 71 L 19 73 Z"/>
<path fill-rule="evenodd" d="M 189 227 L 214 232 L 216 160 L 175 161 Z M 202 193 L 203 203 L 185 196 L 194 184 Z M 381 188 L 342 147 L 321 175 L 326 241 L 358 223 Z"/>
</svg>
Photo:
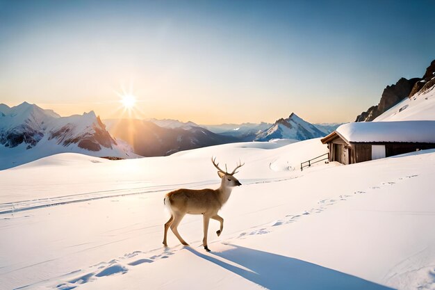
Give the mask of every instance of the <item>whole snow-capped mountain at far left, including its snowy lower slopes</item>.
<svg viewBox="0 0 435 290">
<path fill-rule="evenodd" d="M 129 146 L 118 144 L 93 111 L 60 117 L 27 102 L 12 108 L 1 104 L 0 110 L 0 169 L 62 152 L 131 156 Z"/>
</svg>

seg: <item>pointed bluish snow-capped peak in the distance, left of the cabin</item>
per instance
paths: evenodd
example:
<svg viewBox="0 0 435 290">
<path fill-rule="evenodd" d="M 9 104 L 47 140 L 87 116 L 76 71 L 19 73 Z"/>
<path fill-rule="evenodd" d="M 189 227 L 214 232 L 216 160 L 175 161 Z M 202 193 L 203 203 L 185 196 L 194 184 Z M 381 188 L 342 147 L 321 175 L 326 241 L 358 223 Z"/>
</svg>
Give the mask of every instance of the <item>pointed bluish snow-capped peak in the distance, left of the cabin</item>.
<svg viewBox="0 0 435 290">
<path fill-rule="evenodd" d="M 275 138 L 306 140 L 323 137 L 326 134 L 313 124 L 291 113 L 287 119 L 279 119 L 272 127 L 257 134 L 256 141 L 268 141 Z"/>
</svg>

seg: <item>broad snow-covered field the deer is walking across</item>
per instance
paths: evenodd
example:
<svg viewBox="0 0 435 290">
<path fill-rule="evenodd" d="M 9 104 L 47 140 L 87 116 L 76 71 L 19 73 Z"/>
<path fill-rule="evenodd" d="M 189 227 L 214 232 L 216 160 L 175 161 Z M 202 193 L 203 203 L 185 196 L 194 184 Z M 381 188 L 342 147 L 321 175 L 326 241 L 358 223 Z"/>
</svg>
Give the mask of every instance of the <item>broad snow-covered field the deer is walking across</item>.
<svg viewBox="0 0 435 290">
<path fill-rule="evenodd" d="M 0 171 L 0 289 L 434 289 L 435 150 L 340 166 L 300 162 L 319 138 L 108 161 L 57 154 Z M 163 196 L 243 184 L 201 247 L 186 216 L 163 248 Z M 295 169 L 296 168 L 296 169 Z M 37 206 L 37 207 L 35 207 Z"/>
</svg>

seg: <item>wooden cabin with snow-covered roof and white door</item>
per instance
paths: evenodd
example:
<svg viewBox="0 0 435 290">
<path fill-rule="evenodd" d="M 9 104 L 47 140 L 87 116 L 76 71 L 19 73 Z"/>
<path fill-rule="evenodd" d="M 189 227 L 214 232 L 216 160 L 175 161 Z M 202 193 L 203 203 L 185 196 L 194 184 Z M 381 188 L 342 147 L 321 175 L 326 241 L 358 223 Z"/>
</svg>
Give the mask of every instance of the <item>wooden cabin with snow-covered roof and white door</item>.
<svg viewBox="0 0 435 290">
<path fill-rule="evenodd" d="M 435 148 L 435 121 L 348 123 L 321 141 L 329 161 L 359 163 Z"/>
</svg>

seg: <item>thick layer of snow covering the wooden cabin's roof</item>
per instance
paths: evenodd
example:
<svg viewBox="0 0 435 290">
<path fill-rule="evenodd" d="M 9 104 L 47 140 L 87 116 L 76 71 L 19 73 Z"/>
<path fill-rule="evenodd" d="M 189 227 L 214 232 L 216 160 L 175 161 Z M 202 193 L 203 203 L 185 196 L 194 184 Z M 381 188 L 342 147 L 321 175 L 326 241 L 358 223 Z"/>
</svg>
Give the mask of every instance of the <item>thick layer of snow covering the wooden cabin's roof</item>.
<svg viewBox="0 0 435 290">
<path fill-rule="evenodd" d="M 336 132 L 348 142 L 435 143 L 435 121 L 354 122 Z"/>
</svg>

